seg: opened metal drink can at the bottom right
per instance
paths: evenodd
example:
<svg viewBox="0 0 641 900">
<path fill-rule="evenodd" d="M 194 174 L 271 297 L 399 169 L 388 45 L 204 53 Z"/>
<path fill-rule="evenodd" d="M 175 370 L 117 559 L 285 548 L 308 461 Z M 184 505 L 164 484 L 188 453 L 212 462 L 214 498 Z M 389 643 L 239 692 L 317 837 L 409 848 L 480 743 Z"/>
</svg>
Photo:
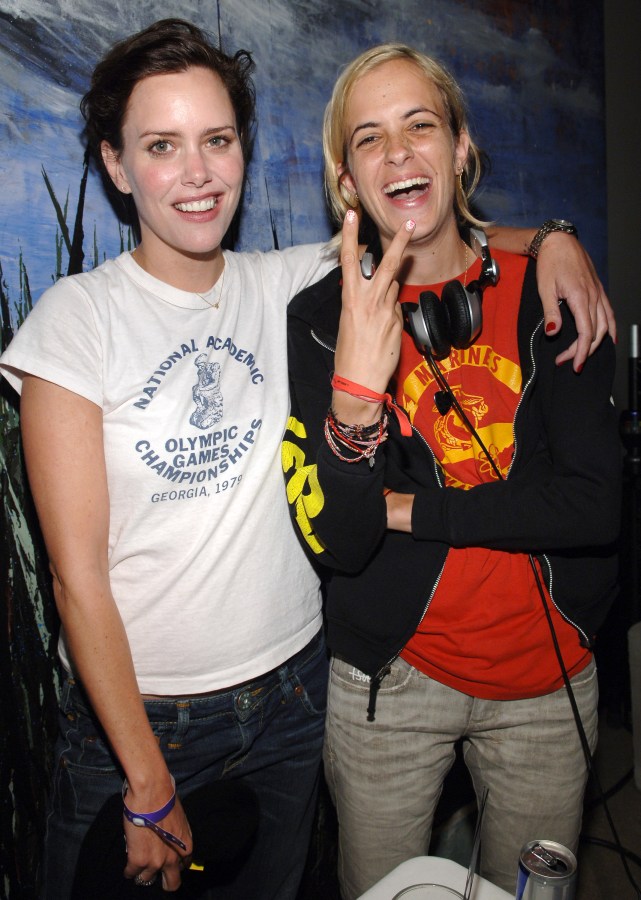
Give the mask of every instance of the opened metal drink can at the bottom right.
<svg viewBox="0 0 641 900">
<path fill-rule="evenodd" d="M 515 900 L 574 900 L 576 857 L 556 841 L 530 841 L 519 855 Z"/>
</svg>

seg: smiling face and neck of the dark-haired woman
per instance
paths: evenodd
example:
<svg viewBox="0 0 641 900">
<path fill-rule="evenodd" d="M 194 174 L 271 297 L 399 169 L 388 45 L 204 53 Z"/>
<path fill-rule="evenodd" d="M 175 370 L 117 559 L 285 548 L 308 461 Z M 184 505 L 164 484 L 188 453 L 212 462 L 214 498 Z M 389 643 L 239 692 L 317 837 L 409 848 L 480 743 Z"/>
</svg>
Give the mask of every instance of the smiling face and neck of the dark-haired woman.
<svg viewBox="0 0 641 900">
<path fill-rule="evenodd" d="M 107 143 L 102 153 L 114 184 L 136 205 L 138 262 L 176 287 L 206 290 L 222 269 L 220 244 L 244 176 L 222 81 L 200 67 L 143 78 L 127 104 L 122 142 L 119 155 Z"/>
</svg>

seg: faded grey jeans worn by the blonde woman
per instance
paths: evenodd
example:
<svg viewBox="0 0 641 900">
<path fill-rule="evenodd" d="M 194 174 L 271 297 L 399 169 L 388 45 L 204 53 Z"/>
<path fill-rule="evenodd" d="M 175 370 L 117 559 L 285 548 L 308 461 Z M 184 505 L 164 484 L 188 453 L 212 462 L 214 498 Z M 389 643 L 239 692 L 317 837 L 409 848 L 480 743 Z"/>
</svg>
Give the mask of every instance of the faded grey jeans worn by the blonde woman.
<svg viewBox="0 0 641 900">
<path fill-rule="evenodd" d="M 594 662 L 571 683 L 594 751 Z M 367 676 L 333 659 L 324 754 L 344 900 L 428 852 L 461 738 L 477 798 L 489 788 L 481 875 L 514 895 L 526 841 L 547 838 L 576 853 L 587 769 L 565 688 L 528 700 L 479 700 L 397 659 L 381 682 L 374 722 L 367 721 L 368 699 Z"/>
</svg>

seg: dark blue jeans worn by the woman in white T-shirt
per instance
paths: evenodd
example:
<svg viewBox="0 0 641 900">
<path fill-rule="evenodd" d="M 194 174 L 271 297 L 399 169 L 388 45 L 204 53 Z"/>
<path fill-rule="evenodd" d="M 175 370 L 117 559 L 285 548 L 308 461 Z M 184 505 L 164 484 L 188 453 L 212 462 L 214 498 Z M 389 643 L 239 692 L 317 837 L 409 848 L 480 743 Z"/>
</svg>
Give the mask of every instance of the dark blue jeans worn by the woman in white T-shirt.
<svg viewBox="0 0 641 900">
<path fill-rule="evenodd" d="M 180 794 L 240 778 L 260 807 L 257 838 L 215 900 L 294 900 L 314 820 L 327 695 L 322 633 L 254 681 L 204 697 L 145 702 Z M 47 823 L 42 897 L 70 894 L 80 844 L 122 770 L 80 687 L 69 680 Z M 141 889 L 142 890 L 142 889 Z"/>
</svg>

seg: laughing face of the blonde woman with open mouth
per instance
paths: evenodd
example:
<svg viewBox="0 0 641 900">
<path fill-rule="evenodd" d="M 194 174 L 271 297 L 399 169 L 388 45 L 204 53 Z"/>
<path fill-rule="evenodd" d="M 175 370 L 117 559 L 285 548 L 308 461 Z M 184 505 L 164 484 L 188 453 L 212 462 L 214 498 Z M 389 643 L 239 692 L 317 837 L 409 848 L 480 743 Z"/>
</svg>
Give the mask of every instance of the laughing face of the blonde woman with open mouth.
<svg viewBox="0 0 641 900">
<path fill-rule="evenodd" d="M 456 176 L 469 139 L 457 139 L 439 90 L 408 60 L 382 63 L 353 86 L 345 109 L 347 164 L 342 183 L 376 224 L 385 249 L 407 219 L 416 222 L 412 248 L 447 238 L 458 242 Z"/>
</svg>

